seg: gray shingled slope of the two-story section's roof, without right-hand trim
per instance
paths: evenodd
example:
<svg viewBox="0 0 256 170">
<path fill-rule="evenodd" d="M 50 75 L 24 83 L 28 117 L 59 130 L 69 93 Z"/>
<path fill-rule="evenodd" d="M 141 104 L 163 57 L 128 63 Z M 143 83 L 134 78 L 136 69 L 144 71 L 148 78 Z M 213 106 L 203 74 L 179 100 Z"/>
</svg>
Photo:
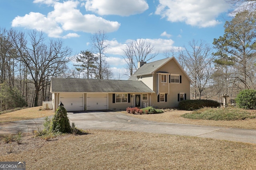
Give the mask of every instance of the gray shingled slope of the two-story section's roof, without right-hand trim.
<svg viewBox="0 0 256 170">
<path fill-rule="evenodd" d="M 128 78 L 128 80 L 137 80 L 136 76 L 138 75 L 146 75 L 146 74 L 152 74 L 154 71 L 156 71 L 160 66 L 165 64 L 167 61 L 171 60 L 171 58 L 166 58 L 158 61 L 154 61 L 151 63 L 143 64 L 136 72 Z"/>
</svg>

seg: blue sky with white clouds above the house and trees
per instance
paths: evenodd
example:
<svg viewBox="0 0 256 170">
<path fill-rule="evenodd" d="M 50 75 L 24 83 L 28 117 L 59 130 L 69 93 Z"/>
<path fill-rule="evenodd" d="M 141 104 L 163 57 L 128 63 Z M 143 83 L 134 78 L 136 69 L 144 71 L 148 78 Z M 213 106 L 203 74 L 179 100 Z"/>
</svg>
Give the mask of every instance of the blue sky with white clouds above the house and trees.
<svg viewBox="0 0 256 170">
<path fill-rule="evenodd" d="M 63 39 L 74 55 L 90 50 L 90 36 L 104 30 L 110 43 L 106 61 L 118 79 L 125 68 L 121 48 L 128 41 L 154 45 L 159 55 L 152 61 L 192 39 L 211 45 L 223 36 L 228 11 L 224 0 L 0 0 L 0 27 L 42 30 Z"/>
</svg>

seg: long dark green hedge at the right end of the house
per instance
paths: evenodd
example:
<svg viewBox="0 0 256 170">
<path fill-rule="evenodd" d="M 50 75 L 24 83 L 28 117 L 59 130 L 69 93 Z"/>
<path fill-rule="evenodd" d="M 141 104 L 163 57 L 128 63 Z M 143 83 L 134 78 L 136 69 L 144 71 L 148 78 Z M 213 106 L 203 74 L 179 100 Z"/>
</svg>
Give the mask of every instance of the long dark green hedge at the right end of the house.
<svg viewBox="0 0 256 170">
<path fill-rule="evenodd" d="M 196 110 L 202 107 L 219 107 L 220 103 L 214 100 L 182 100 L 178 107 L 180 110 Z"/>
</svg>

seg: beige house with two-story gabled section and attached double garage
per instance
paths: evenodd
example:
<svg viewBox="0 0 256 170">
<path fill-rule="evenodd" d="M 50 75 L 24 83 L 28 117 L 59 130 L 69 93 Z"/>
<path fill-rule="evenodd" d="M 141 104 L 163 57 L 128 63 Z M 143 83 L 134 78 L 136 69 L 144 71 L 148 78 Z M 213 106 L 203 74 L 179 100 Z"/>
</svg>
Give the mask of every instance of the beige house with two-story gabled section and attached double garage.
<svg viewBox="0 0 256 170">
<path fill-rule="evenodd" d="M 128 80 L 52 78 L 53 109 L 67 111 L 177 107 L 190 99 L 190 78 L 174 57 L 138 63 Z"/>
</svg>

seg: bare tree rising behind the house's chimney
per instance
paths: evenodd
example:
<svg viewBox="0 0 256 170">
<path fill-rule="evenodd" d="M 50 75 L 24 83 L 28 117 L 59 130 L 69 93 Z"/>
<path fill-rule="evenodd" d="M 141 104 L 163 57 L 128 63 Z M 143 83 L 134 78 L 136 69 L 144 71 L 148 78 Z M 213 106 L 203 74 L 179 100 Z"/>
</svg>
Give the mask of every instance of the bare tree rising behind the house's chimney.
<svg viewBox="0 0 256 170">
<path fill-rule="evenodd" d="M 131 41 L 122 50 L 125 54 L 128 76 L 131 76 L 138 69 L 138 62 L 147 62 L 158 55 L 154 46 L 144 39 Z"/>
</svg>

